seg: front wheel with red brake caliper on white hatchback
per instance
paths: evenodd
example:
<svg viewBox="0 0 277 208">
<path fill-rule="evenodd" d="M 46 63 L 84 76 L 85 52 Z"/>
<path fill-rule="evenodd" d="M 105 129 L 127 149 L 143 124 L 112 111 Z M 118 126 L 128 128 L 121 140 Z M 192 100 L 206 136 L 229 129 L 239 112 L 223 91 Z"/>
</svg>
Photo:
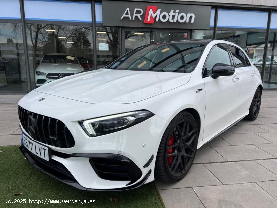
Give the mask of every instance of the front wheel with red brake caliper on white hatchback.
<svg viewBox="0 0 277 208">
<path fill-rule="evenodd" d="M 166 128 L 155 163 L 155 178 L 167 182 L 181 180 L 192 166 L 198 129 L 194 117 L 184 111 L 176 115 Z"/>
</svg>

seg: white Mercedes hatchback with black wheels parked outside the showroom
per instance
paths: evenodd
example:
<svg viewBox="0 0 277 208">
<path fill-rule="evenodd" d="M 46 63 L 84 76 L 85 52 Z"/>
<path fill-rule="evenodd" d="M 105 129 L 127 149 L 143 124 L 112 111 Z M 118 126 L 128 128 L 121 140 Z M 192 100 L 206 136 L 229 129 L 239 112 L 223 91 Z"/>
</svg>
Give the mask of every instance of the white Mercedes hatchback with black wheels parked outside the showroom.
<svg viewBox="0 0 277 208">
<path fill-rule="evenodd" d="M 58 79 L 18 103 L 27 160 L 81 190 L 175 182 L 196 150 L 261 104 L 260 73 L 239 46 L 190 40 L 136 48 Z"/>
</svg>

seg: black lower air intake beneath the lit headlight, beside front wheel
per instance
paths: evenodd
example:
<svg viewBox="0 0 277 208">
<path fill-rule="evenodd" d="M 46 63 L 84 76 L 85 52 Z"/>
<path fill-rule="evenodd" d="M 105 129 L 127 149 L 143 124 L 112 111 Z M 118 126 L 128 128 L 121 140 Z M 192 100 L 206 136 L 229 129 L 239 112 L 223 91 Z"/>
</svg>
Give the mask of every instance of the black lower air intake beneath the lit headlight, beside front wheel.
<svg viewBox="0 0 277 208">
<path fill-rule="evenodd" d="M 98 154 L 89 159 L 96 174 L 105 180 L 130 181 L 133 183 L 142 176 L 142 171 L 133 161 L 116 154 Z"/>
</svg>

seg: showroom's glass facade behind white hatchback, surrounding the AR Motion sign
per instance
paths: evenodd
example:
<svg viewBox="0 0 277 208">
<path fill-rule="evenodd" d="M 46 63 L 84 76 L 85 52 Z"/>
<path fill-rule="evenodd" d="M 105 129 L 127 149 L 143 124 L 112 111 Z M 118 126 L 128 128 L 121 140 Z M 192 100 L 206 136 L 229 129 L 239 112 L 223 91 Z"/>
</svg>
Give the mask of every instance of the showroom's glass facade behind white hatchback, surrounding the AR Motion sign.
<svg viewBox="0 0 277 208">
<path fill-rule="evenodd" d="M 264 88 L 277 89 L 277 12 L 271 12 L 268 28 L 267 9 L 222 9 L 211 3 L 207 30 L 132 28 L 131 24 L 103 26 L 102 17 L 106 14 L 102 13 L 102 3 L 92 4 L 93 1 L 1 1 L 0 93 L 28 92 L 57 79 L 57 73 L 69 76 L 79 73 L 80 68 L 96 70 L 145 44 L 213 38 L 248 47 L 248 56 L 263 75 Z M 23 12 L 25 19 L 21 18 Z M 50 54 L 48 63 L 41 62 L 46 54 Z M 73 71 L 54 72 L 55 65 L 59 69 L 66 65 Z M 42 67 L 45 72 L 39 70 Z M 47 77 L 47 73 L 52 74 Z"/>
</svg>

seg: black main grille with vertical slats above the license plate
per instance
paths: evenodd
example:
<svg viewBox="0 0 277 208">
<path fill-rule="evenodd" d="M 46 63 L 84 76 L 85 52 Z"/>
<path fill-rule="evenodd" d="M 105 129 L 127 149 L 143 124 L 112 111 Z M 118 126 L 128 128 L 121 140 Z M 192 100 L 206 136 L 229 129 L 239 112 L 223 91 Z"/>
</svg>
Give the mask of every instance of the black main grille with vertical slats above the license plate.
<svg viewBox="0 0 277 208">
<path fill-rule="evenodd" d="M 30 112 L 20 106 L 18 106 L 18 115 L 26 132 L 29 133 L 30 126 L 28 125 L 33 124 L 34 135 L 29 134 L 34 140 L 60 148 L 71 148 L 75 145 L 70 130 L 60 120 Z"/>
</svg>

